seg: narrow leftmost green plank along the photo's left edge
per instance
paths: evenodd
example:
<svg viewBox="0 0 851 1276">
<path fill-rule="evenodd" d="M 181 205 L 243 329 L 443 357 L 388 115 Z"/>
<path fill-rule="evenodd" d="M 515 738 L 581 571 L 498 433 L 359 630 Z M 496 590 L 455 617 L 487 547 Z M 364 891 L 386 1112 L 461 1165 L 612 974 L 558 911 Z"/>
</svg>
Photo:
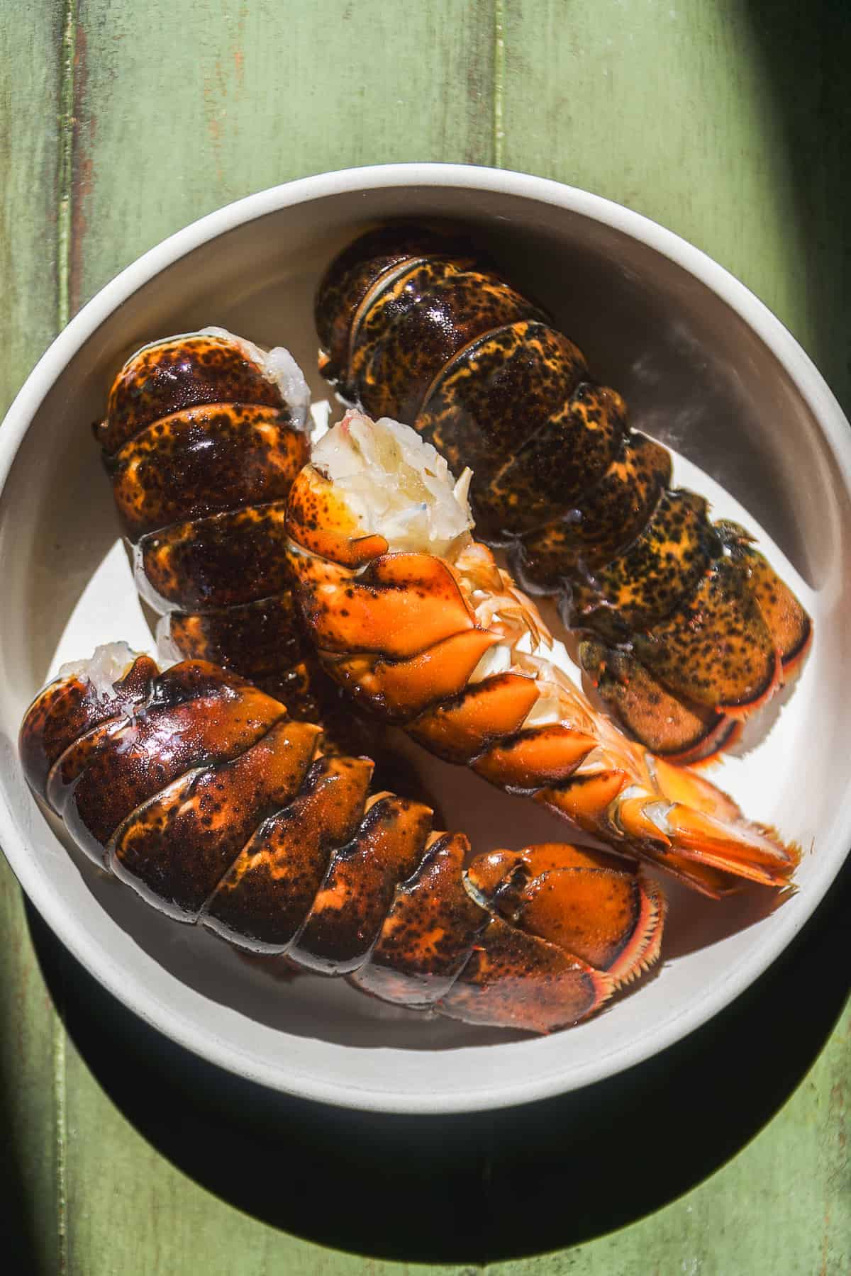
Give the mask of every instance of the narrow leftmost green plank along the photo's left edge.
<svg viewBox="0 0 851 1276">
<path fill-rule="evenodd" d="M 0 415 L 56 330 L 61 10 L 9 0 L 0 24 Z M 64 1037 L 20 888 L 0 856 L 0 1234 L 9 1270 L 59 1271 Z"/>
</svg>

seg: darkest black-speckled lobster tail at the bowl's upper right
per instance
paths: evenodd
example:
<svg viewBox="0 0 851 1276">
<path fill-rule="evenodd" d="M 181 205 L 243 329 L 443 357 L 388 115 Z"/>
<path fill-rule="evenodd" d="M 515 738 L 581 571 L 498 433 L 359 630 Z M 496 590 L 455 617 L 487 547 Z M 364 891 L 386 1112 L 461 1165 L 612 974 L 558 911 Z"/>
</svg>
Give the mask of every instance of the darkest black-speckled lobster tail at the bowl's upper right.
<svg viewBox="0 0 851 1276">
<path fill-rule="evenodd" d="M 468 241 L 373 231 L 330 264 L 315 314 L 347 402 L 472 467 L 480 536 L 560 597 L 582 666 L 655 753 L 712 755 L 800 665 L 810 619 L 749 533 L 671 489 L 667 449 Z"/>
</svg>

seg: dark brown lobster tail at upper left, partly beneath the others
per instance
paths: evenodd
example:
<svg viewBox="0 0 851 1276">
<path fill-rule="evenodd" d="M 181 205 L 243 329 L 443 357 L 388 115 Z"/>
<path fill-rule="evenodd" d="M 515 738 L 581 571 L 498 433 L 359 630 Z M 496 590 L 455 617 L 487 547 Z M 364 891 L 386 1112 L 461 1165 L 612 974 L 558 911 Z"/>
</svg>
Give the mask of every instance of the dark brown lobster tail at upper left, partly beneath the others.
<svg viewBox="0 0 851 1276">
<path fill-rule="evenodd" d="M 285 554 L 309 392 L 286 350 L 208 328 L 139 350 L 96 429 L 161 647 L 314 709 Z"/>
</svg>

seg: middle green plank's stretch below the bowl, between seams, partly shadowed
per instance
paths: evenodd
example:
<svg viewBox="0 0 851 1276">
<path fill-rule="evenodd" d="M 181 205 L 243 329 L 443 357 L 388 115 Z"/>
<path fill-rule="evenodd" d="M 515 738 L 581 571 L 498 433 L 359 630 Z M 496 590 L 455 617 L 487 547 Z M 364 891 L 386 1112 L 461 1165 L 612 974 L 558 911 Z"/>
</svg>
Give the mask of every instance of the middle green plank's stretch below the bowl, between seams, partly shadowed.
<svg viewBox="0 0 851 1276">
<path fill-rule="evenodd" d="M 388 1139 L 381 1118 L 228 1077 L 117 1004 L 46 928 L 38 947 L 66 988 L 70 1272 L 425 1276 L 344 1249 L 415 1256 L 435 1230 L 452 1247 L 453 1221 L 470 1247 L 447 1123 L 397 1119 Z"/>
</svg>

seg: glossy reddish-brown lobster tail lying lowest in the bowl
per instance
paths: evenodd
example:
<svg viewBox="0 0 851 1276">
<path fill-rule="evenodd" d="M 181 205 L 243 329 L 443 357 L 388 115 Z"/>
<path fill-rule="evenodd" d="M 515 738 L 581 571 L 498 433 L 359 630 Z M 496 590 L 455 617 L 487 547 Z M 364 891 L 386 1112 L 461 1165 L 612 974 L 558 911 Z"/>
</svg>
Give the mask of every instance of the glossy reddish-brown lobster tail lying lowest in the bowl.
<svg viewBox="0 0 851 1276">
<path fill-rule="evenodd" d="M 20 755 L 87 855 L 156 907 L 401 1005 L 546 1032 L 658 956 L 663 898 L 629 865 L 545 845 L 464 870 L 463 835 L 370 796 L 373 763 L 320 741 L 236 674 L 112 644 L 36 699 Z"/>
</svg>

